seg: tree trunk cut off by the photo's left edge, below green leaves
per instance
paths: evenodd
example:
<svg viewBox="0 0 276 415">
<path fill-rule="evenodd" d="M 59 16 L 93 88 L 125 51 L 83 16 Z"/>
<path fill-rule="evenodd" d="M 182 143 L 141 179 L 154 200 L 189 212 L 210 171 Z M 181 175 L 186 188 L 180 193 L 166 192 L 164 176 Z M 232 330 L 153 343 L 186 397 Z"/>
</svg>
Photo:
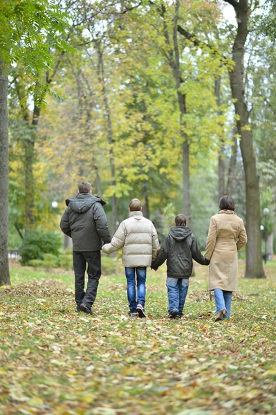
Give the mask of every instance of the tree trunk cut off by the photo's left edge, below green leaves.
<svg viewBox="0 0 276 415">
<path fill-rule="evenodd" d="M 10 285 L 8 267 L 8 77 L 0 57 L 0 286 Z"/>
</svg>

